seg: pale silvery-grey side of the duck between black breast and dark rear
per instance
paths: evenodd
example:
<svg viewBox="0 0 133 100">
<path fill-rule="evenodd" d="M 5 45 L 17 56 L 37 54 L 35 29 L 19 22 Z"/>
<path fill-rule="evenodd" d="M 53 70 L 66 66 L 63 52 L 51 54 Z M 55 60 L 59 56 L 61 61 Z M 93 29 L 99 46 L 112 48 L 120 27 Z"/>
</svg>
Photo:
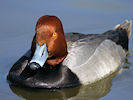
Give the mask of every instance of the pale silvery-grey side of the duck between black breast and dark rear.
<svg viewBox="0 0 133 100">
<path fill-rule="evenodd" d="M 99 45 L 95 43 L 89 48 L 90 45 L 72 47 L 63 61 L 79 77 L 81 83 L 94 82 L 114 72 L 126 56 L 122 47 L 111 40 L 104 40 Z"/>
</svg>

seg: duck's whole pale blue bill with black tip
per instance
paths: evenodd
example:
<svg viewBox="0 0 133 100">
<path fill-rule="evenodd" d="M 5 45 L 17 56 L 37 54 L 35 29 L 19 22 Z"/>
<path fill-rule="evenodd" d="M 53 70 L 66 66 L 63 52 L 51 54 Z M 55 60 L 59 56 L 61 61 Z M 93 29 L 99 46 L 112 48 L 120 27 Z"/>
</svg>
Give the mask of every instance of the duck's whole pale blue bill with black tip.
<svg viewBox="0 0 133 100">
<path fill-rule="evenodd" d="M 31 59 L 31 61 L 29 62 L 28 66 L 32 70 L 36 70 L 40 67 L 43 67 L 47 58 L 48 58 L 48 51 L 47 51 L 46 43 L 44 43 L 42 46 L 39 46 L 39 44 L 36 43 L 35 53 Z"/>
</svg>

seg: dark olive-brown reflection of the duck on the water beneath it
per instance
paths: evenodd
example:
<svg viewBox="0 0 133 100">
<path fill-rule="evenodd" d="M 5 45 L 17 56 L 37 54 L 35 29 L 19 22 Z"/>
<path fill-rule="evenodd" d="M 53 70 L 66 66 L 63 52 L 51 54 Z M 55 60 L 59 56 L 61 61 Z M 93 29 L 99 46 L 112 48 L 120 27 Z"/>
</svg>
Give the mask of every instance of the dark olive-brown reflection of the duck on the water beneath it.
<svg viewBox="0 0 133 100">
<path fill-rule="evenodd" d="M 11 90 L 26 100 L 97 100 L 108 94 L 112 86 L 114 74 L 90 85 L 76 88 L 45 90 L 27 89 L 10 85 Z"/>
</svg>

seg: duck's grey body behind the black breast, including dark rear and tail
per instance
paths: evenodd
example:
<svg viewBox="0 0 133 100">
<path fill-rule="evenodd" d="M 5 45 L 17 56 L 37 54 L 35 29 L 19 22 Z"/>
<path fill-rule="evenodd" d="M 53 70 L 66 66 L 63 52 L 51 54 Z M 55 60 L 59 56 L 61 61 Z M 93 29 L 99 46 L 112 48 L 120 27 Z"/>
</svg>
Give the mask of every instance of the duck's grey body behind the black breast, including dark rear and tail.
<svg viewBox="0 0 133 100">
<path fill-rule="evenodd" d="M 81 83 L 96 81 L 122 64 L 130 32 L 131 22 L 126 21 L 103 34 L 91 34 L 74 41 L 68 45 L 63 65 L 71 69 Z"/>
</svg>

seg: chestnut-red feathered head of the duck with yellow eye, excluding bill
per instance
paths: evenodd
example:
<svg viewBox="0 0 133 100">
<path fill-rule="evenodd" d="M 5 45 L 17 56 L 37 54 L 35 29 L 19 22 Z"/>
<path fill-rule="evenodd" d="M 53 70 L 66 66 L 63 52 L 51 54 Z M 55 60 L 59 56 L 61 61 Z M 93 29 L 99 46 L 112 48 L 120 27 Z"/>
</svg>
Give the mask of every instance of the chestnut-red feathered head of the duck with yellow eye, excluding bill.
<svg viewBox="0 0 133 100">
<path fill-rule="evenodd" d="M 64 60 L 67 56 L 67 44 L 62 23 L 58 17 L 46 15 L 39 18 L 31 46 L 32 55 L 36 51 L 36 44 L 40 48 L 46 44 L 48 52 L 47 64 L 55 66 Z"/>
</svg>

